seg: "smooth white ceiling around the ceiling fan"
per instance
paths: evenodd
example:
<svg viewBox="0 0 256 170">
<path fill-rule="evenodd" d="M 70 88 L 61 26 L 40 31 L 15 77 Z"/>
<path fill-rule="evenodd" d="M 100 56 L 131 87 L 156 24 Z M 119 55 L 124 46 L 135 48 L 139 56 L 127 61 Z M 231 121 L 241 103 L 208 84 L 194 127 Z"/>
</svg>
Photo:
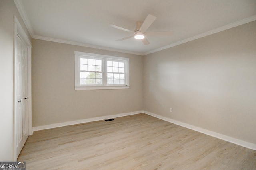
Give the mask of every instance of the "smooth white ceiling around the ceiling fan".
<svg viewBox="0 0 256 170">
<path fill-rule="evenodd" d="M 14 0 L 33 38 L 145 55 L 256 20 L 256 0 Z M 149 45 L 110 27 L 134 30 L 148 14 Z"/>
</svg>

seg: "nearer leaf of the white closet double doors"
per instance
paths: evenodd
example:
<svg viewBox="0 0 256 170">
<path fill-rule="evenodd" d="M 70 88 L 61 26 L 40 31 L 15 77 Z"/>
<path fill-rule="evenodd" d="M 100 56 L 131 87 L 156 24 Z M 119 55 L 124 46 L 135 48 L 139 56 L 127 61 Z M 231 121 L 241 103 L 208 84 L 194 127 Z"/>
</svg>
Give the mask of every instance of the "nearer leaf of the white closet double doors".
<svg viewBox="0 0 256 170">
<path fill-rule="evenodd" d="M 23 147 L 22 140 L 22 41 L 18 35 L 16 35 L 16 43 L 15 43 L 15 113 L 14 113 L 14 143 L 16 158 L 20 154 L 20 151 Z"/>
</svg>

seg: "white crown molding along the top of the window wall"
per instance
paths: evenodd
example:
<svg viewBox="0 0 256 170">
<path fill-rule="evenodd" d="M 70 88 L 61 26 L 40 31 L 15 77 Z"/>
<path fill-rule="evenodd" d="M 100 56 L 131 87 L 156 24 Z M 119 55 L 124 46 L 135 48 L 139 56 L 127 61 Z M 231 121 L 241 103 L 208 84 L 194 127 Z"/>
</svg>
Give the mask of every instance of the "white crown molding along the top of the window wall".
<svg viewBox="0 0 256 170">
<path fill-rule="evenodd" d="M 90 48 L 95 48 L 95 49 L 102 49 L 102 50 L 108 50 L 108 51 L 116 51 L 116 52 L 135 54 L 135 55 L 143 55 L 143 53 L 138 53 L 138 52 L 134 52 L 134 51 L 127 51 L 127 50 L 122 50 L 122 49 L 114 49 L 114 48 L 110 48 L 110 47 L 102 47 L 102 46 L 99 46 L 99 45 L 91 45 L 91 44 L 86 44 L 86 43 L 78 43 L 78 42 L 74 42 L 74 41 L 67 41 L 67 40 L 63 40 L 63 39 L 55 39 L 55 38 L 38 36 L 38 35 L 34 35 L 33 38 L 34 39 L 41 39 L 41 40 L 45 40 L 45 41 L 52 41 L 52 42 L 56 42 L 56 43 L 78 45 L 78 46 L 82 46 L 82 47 L 90 47 Z"/>
</svg>

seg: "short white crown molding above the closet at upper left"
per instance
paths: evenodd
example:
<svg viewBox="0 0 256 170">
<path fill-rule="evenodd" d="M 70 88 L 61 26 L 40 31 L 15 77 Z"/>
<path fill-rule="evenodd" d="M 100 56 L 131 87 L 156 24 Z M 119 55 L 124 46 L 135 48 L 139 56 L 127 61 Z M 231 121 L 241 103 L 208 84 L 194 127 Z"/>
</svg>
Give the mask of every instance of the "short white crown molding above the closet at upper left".
<svg viewBox="0 0 256 170">
<path fill-rule="evenodd" d="M 28 32 L 30 34 L 31 37 L 34 37 L 35 33 L 34 33 L 34 30 L 32 29 L 32 26 L 30 24 L 30 21 L 28 20 L 28 16 L 24 10 L 24 6 L 22 4 L 22 1 L 21 0 L 14 0 L 14 3 L 20 13 L 20 16 L 22 18 L 22 20 L 24 21 L 27 29 L 28 29 Z"/>
</svg>

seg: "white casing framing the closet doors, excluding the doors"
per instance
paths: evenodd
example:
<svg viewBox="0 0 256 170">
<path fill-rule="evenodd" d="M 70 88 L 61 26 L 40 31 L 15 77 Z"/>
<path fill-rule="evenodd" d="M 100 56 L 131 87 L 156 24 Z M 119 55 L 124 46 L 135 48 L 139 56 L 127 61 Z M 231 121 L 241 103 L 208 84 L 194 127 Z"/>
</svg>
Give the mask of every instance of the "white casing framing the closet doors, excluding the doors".
<svg viewBox="0 0 256 170">
<path fill-rule="evenodd" d="M 32 94 L 31 94 L 31 48 L 32 43 L 28 36 L 26 35 L 24 29 L 20 25 L 20 22 L 16 18 L 16 16 L 13 16 L 13 161 L 17 161 L 18 155 L 16 155 L 16 147 L 15 147 L 15 113 L 16 113 L 16 90 L 15 90 L 15 44 L 16 44 L 16 34 L 19 35 L 20 39 L 25 43 L 28 51 L 28 135 L 32 135 Z"/>
</svg>

